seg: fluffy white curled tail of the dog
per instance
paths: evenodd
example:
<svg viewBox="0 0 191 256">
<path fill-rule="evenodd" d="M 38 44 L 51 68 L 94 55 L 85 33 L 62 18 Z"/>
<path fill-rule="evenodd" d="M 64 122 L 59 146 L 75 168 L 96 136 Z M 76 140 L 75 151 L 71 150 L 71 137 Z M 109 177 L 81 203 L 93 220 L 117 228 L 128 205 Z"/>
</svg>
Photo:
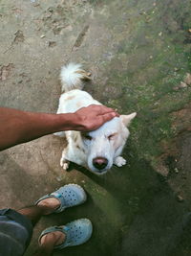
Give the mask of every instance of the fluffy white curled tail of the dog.
<svg viewBox="0 0 191 256">
<path fill-rule="evenodd" d="M 63 66 L 60 73 L 62 91 L 67 92 L 74 89 L 83 89 L 83 81 L 91 80 L 90 73 L 81 68 L 81 64 L 70 63 Z"/>
</svg>

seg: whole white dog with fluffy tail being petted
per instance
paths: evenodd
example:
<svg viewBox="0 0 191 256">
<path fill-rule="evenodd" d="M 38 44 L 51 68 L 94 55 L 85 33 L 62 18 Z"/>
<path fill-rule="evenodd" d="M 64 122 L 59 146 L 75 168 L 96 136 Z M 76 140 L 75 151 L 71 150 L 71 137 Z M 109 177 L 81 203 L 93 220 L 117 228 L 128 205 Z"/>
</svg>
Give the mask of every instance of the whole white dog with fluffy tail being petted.
<svg viewBox="0 0 191 256">
<path fill-rule="evenodd" d="M 64 93 L 60 96 L 57 114 L 73 113 L 83 106 L 101 105 L 89 93 L 81 90 L 83 80 L 90 79 L 89 76 L 81 69 L 80 64 L 71 63 L 62 67 L 60 78 Z M 85 134 L 74 130 L 55 133 L 66 136 L 68 141 L 67 148 L 62 152 L 60 165 L 67 170 L 72 161 L 96 175 L 106 173 L 113 164 L 118 167 L 125 165 L 126 160 L 120 154 L 129 136 L 127 127 L 136 115 L 137 113 L 120 115 Z"/>
</svg>

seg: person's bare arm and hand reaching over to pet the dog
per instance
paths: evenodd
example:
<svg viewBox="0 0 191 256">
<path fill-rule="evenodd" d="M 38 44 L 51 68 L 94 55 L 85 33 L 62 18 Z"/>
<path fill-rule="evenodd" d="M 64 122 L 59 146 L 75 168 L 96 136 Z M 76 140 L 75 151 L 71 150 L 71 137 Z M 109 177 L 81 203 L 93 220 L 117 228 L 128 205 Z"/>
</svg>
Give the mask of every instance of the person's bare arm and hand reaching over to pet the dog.
<svg viewBox="0 0 191 256">
<path fill-rule="evenodd" d="M 116 116 L 117 112 L 105 105 L 89 105 L 66 114 L 0 107 L 0 151 L 57 131 L 94 130 Z"/>
</svg>

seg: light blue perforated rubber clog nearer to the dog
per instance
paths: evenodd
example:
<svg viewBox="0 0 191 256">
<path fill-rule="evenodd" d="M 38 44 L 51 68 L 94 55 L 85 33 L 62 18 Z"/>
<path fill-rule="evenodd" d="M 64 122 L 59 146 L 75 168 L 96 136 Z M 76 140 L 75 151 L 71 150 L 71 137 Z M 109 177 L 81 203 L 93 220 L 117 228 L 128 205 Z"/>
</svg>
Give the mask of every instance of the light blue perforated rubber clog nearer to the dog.
<svg viewBox="0 0 191 256">
<path fill-rule="evenodd" d="M 35 202 L 35 205 L 37 205 L 39 201 L 46 198 L 57 198 L 60 201 L 60 206 L 55 211 L 53 211 L 53 213 L 60 213 L 68 207 L 73 207 L 83 203 L 86 200 L 86 193 L 79 185 L 68 184 L 51 194 L 39 198 Z"/>
</svg>

